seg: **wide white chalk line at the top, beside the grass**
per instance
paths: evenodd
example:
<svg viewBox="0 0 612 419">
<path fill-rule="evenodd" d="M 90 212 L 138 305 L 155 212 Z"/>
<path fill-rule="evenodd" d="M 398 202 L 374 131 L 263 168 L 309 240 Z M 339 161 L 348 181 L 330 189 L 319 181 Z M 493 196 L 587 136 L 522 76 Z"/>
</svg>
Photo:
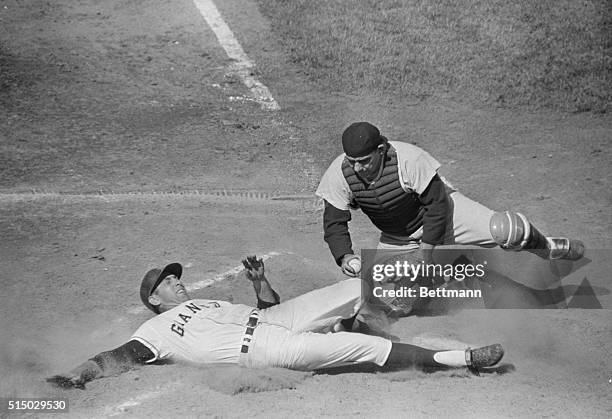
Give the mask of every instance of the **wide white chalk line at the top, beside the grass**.
<svg viewBox="0 0 612 419">
<path fill-rule="evenodd" d="M 227 56 L 235 60 L 231 67 L 232 73 L 238 76 L 242 83 L 249 88 L 255 100 L 263 109 L 279 110 L 280 106 L 272 97 L 270 90 L 253 75 L 255 66 L 234 37 L 212 0 L 193 0 L 193 3 L 217 36 Z"/>
</svg>

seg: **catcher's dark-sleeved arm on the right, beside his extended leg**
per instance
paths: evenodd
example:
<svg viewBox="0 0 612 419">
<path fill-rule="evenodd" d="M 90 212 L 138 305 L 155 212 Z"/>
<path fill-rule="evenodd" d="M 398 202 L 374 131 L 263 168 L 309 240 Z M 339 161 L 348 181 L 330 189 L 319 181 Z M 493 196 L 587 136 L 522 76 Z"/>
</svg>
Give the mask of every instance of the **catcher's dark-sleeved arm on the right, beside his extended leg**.
<svg viewBox="0 0 612 419">
<path fill-rule="evenodd" d="M 419 195 L 419 199 L 425 207 L 421 249 L 425 262 L 431 263 L 434 247 L 444 243 L 449 211 L 448 196 L 440 176 L 436 174 L 431 179 L 427 188 Z"/>
</svg>

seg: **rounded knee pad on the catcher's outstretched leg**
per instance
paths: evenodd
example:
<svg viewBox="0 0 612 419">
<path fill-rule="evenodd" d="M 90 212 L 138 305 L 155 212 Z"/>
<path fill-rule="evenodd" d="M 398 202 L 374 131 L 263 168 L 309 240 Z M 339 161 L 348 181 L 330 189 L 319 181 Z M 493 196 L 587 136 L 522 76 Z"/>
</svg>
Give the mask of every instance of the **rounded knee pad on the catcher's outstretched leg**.
<svg viewBox="0 0 612 419">
<path fill-rule="evenodd" d="M 521 250 L 531 237 L 531 224 L 520 212 L 496 212 L 489 221 L 491 236 L 504 249 Z"/>
</svg>

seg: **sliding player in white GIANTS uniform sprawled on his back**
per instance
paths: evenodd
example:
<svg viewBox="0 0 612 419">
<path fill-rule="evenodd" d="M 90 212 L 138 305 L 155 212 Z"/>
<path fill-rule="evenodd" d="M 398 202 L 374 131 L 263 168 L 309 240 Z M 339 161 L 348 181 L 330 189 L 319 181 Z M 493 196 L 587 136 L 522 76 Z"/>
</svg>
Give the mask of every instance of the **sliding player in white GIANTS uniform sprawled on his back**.
<svg viewBox="0 0 612 419">
<path fill-rule="evenodd" d="M 88 381 L 160 360 L 296 370 L 373 363 L 386 368 L 468 367 L 477 372 L 497 364 L 503 356 L 499 344 L 434 351 L 379 336 L 332 333 L 339 322 L 354 317 L 362 307 L 363 281 L 348 279 L 279 303 L 265 277 L 263 261 L 252 256 L 243 264 L 257 295 L 257 308 L 191 299 L 178 263 L 152 269 L 142 280 L 140 297 L 157 315 L 124 345 L 47 381 L 84 389 Z"/>
</svg>

